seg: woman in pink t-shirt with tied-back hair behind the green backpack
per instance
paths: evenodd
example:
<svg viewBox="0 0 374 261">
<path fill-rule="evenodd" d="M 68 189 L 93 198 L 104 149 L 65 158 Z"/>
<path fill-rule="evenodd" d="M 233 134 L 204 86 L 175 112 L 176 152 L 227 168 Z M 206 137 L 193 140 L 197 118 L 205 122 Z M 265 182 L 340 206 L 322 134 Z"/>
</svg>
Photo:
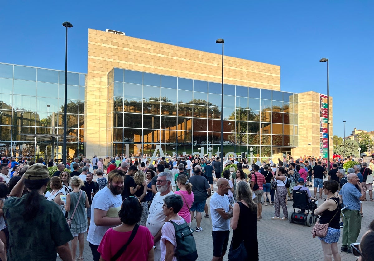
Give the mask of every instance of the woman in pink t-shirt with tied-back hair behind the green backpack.
<svg viewBox="0 0 374 261">
<path fill-rule="evenodd" d="M 180 190 L 175 192 L 175 194 L 181 195 L 183 199 L 183 207 L 178 214 L 183 217 L 184 220 L 186 220 L 188 226 L 190 226 L 192 221 L 190 208 L 192 206 L 192 203 L 195 201 L 192 192 L 192 184 L 187 180 L 186 175 L 179 175 L 177 177 L 177 186 Z"/>
</svg>

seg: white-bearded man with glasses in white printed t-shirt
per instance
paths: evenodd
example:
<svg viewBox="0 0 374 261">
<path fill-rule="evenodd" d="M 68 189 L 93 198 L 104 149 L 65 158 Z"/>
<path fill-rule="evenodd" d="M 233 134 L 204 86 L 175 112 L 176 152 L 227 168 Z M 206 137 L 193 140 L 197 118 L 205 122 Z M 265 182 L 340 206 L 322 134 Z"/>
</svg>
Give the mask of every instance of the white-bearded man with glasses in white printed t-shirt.
<svg viewBox="0 0 374 261">
<path fill-rule="evenodd" d="M 172 195 L 173 192 L 170 190 L 171 180 L 173 179 L 172 174 L 169 172 L 161 172 L 157 176 L 156 186 L 157 193 L 153 197 L 151 206 L 149 207 L 149 214 L 147 219 L 147 228 L 154 236 L 153 242 L 156 248 L 154 249 L 154 261 L 160 261 L 161 249 L 160 249 L 160 238 L 161 229 L 165 224 L 165 215 L 163 214 L 163 199 Z"/>
</svg>

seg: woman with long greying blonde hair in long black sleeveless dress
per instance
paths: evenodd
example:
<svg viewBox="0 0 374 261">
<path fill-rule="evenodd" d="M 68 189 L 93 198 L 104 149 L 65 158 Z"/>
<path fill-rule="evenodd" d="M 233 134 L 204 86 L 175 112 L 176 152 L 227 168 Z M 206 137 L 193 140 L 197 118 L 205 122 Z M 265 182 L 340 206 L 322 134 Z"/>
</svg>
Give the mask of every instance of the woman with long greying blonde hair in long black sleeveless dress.
<svg viewBox="0 0 374 261">
<path fill-rule="evenodd" d="M 231 221 L 231 227 L 234 232 L 229 250 L 229 259 L 230 252 L 237 249 L 243 242 L 248 255 L 241 260 L 258 260 L 257 204 L 252 199 L 253 192 L 247 182 L 239 181 L 236 184 L 235 193 L 236 203 L 234 204 Z"/>
</svg>

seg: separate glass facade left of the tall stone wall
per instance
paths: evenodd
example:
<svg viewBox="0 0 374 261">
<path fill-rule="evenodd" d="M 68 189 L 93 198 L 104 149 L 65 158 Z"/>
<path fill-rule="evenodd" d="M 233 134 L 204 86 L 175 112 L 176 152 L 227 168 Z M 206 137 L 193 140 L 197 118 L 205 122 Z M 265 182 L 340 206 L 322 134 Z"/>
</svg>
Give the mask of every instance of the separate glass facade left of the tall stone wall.
<svg viewBox="0 0 374 261">
<path fill-rule="evenodd" d="M 85 76 L 67 75 L 68 158 L 84 154 Z M 65 71 L 0 63 L 1 156 L 62 158 L 64 91 Z"/>
</svg>

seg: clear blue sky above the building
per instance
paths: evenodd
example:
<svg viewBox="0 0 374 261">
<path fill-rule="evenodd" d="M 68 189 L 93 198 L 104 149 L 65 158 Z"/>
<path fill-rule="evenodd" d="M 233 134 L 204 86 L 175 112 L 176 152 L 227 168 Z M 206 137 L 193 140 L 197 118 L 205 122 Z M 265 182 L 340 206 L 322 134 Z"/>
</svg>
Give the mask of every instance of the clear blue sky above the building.
<svg viewBox="0 0 374 261">
<path fill-rule="evenodd" d="M 87 72 L 88 28 L 281 66 L 281 90 L 333 97 L 333 134 L 373 131 L 374 1 L 2 1 L 0 62 Z M 230 4 L 228 4 L 230 3 Z M 372 76 L 370 76 L 372 75 Z"/>
</svg>

